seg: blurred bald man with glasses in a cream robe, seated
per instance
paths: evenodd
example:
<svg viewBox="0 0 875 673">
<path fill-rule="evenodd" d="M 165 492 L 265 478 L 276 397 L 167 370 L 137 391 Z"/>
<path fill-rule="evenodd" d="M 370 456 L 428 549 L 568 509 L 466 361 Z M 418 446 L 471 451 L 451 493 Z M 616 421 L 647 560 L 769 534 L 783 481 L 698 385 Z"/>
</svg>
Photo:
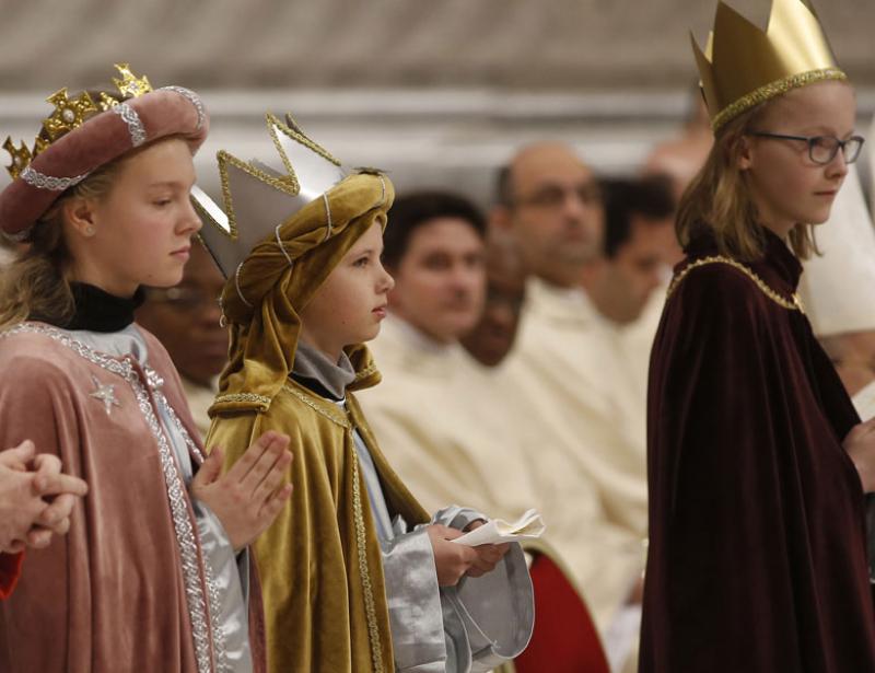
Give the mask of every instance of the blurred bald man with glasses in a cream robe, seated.
<svg viewBox="0 0 875 673">
<path fill-rule="evenodd" d="M 538 454 L 557 503 L 545 520 L 573 527 L 575 498 L 582 488 L 595 488 L 604 524 L 622 531 L 639 549 L 639 566 L 631 569 L 615 565 L 596 544 L 560 547 L 606 634 L 638 597 L 648 501 L 642 376 L 631 371 L 623 330 L 582 287 L 587 265 L 603 256 L 599 183 L 569 147 L 526 147 L 500 174 L 492 224 L 514 239 L 529 274 L 506 369 L 529 396 L 529 416 L 551 429 Z M 625 568 L 622 579 L 612 572 L 618 567 Z"/>
</svg>

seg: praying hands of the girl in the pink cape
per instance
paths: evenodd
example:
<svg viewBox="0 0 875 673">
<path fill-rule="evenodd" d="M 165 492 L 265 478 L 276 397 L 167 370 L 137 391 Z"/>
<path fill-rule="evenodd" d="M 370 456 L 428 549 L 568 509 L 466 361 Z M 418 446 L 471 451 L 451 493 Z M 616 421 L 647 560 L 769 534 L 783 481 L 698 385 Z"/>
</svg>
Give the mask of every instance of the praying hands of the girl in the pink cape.
<svg viewBox="0 0 875 673">
<path fill-rule="evenodd" d="M 219 517 L 235 552 L 255 542 L 292 495 L 292 485 L 282 484 L 292 462 L 288 446 L 288 436 L 265 432 L 223 476 L 215 446 L 191 480 L 191 495 Z"/>
</svg>

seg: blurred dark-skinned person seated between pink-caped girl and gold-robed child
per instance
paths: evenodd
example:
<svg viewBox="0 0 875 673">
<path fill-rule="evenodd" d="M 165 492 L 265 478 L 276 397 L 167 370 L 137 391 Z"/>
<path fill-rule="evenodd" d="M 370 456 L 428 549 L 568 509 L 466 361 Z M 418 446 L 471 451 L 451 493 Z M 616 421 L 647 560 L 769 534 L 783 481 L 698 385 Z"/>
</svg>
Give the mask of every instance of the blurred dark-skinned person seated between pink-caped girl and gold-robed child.
<svg viewBox="0 0 875 673">
<path fill-rule="evenodd" d="M 210 429 L 210 408 L 218 376 L 228 362 L 228 330 L 219 324 L 219 294 L 224 278 L 197 241 L 183 280 L 173 288 L 149 288 L 137 322 L 154 334 L 171 355 L 183 380 L 188 406 L 201 438 Z"/>
</svg>

